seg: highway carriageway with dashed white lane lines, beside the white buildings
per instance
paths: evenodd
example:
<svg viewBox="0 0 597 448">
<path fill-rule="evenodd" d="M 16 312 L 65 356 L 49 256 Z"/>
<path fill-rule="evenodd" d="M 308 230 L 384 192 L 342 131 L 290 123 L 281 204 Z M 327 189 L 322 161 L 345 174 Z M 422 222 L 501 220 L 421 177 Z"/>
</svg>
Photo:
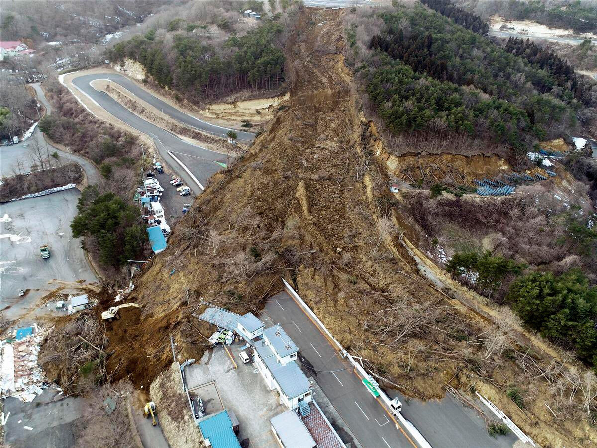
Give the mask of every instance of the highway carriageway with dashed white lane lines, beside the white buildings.
<svg viewBox="0 0 597 448">
<path fill-rule="evenodd" d="M 286 292 L 267 301 L 268 324 L 281 324 L 307 358 L 317 375 L 313 377 L 340 416 L 364 447 L 413 447 L 361 380 L 342 360 L 324 335 Z M 265 321 L 265 315 L 261 316 Z M 317 397 L 315 397 L 317 400 Z M 406 431 L 406 430 L 405 430 Z"/>
</svg>

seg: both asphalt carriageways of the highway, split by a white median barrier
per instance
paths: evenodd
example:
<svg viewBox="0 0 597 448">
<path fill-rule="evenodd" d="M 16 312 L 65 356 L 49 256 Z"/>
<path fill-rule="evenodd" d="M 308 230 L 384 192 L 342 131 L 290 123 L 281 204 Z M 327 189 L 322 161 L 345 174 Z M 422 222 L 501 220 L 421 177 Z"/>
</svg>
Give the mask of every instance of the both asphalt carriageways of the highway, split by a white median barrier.
<svg viewBox="0 0 597 448">
<path fill-rule="evenodd" d="M 389 420 L 386 412 L 352 372 L 352 366 L 340 359 L 333 346 L 286 292 L 270 297 L 265 311 L 270 317 L 266 326 L 281 324 L 297 344 L 300 354 L 320 371 L 314 375 L 315 380 L 362 446 L 412 447 L 391 420 L 384 423 Z M 261 317 L 267 320 L 265 315 Z M 391 398 L 400 398 L 402 415 L 435 448 L 511 447 L 518 440 L 513 434 L 491 437 L 487 434 L 484 420 L 450 396 L 443 400 L 410 400 L 407 403 L 405 397 L 396 391 L 386 393 Z"/>
</svg>

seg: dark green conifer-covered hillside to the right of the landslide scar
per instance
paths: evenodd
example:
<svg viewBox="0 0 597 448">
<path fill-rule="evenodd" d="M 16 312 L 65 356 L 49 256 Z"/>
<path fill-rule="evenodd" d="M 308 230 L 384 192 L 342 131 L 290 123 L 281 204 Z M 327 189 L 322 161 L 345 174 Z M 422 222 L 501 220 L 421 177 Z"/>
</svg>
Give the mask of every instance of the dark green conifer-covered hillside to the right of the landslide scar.
<svg viewBox="0 0 597 448">
<path fill-rule="evenodd" d="M 577 127 L 581 103 L 554 73 L 420 4 L 354 26 L 349 60 L 394 133 L 462 133 L 507 145 L 512 156 Z"/>
</svg>

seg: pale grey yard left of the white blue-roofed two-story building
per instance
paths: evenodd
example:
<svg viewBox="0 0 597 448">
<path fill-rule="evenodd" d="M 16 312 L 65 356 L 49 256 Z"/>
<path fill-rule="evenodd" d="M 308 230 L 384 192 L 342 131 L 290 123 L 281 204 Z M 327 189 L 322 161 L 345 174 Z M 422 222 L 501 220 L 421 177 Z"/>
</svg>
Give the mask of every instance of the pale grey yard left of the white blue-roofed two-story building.
<svg viewBox="0 0 597 448">
<path fill-rule="evenodd" d="M 221 346 L 205 352 L 201 361 L 184 369 L 189 391 L 197 386 L 214 382 L 224 408 L 231 409 L 240 423 L 239 440 L 248 438 L 250 446 L 278 447 L 270 431 L 269 419 L 287 410 L 279 404 L 275 392 L 267 390 L 265 382 L 253 364 L 243 364 L 238 354 L 244 343 L 234 343 L 229 347 L 237 369 Z M 209 392 L 208 388 L 199 388 Z M 212 394 L 212 392 L 209 392 Z M 201 395 L 205 410 L 219 408 L 217 397 Z M 207 400 L 206 400 L 207 398 Z"/>
</svg>

